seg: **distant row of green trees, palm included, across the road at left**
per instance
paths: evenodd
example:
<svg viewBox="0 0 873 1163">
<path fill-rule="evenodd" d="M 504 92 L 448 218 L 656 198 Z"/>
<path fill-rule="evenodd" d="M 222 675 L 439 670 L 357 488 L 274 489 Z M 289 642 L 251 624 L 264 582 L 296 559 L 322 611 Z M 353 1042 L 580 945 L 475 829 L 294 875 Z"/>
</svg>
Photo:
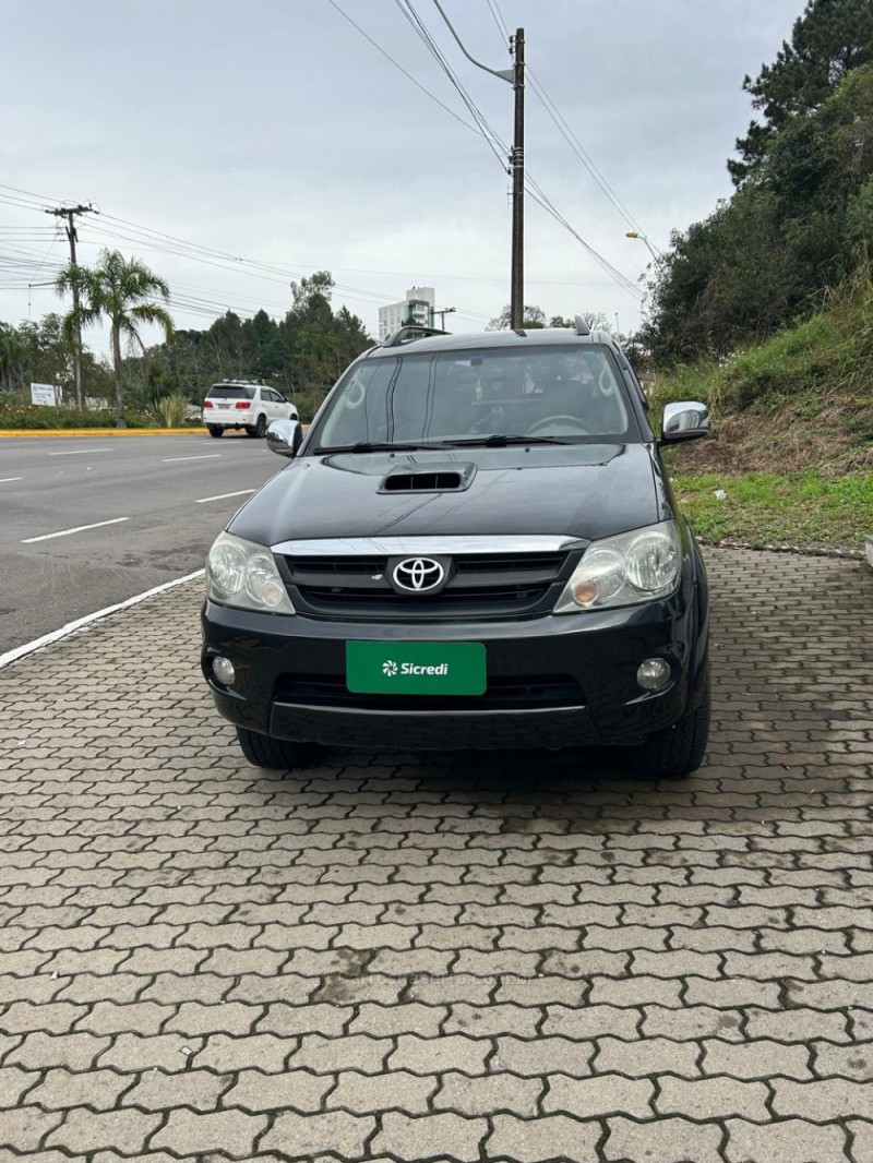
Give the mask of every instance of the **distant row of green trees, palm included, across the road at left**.
<svg viewBox="0 0 873 1163">
<path fill-rule="evenodd" d="M 112 359 L 83 349 L 84 394 L 113 401 L 119 423 L 126 407 L 148 408 L 168 395 L 198 404 L 225 378 L 269 381 L 293 397 L 301 415 L 311 415 L 346 365 L 374 342 L 357 315 L 332 307 L 328 271 L 291 284 L 283 319 L 263 309 L 251 319 L 228 311 L 205 330 L 177 329 L 166 281 L 118 251 L 102 251 L 93 267 L 63 270 L 58 293 L 69 295 L 73 287 L 78 309 L 19 327 L 0 321 L 0 393 L 26 394 L 31 383 L 48 383 L 72 402 L 77 330 L 106 322 Z M 147 345 L 144 324 L 158 326 L 163 342 Z"/>
</svg>

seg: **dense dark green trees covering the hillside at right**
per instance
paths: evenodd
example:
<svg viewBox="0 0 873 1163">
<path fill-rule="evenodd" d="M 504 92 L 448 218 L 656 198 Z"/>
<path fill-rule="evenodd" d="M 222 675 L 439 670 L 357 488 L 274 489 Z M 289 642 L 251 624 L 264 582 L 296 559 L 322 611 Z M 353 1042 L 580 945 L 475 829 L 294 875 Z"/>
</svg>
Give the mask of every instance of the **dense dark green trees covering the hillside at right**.
<svg viewBox="0 0 873 1163">
<path fill-rule="evenodd" d="M 728 163 L 733 195 L 654 265 L 641 338 L 655 364 L 764 340 L 870 264 L 873 0 L 809 0 L 744 88 L 759 119 Z"/>
</svg>

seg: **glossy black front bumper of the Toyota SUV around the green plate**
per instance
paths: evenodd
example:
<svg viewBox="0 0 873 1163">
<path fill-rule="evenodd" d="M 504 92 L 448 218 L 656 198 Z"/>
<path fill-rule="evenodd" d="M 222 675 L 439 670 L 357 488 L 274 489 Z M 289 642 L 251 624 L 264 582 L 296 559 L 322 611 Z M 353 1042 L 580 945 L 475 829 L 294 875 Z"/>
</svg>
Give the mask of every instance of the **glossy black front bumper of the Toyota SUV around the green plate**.
<svg viewBox="0 0 873 1163">
<path fill-rule="evenodd" d="M 365 750 L 629 744 L 672 726 L 696 701 L 705 663 L 705 587 L 684 577 L 645 606 L 531 621 L 333 622 L 232 609 L 207 600 L 201 668 L 219 712 L 262 735 Z M 473 697 L 363 695 L 345 685 L 346 642 L 481 642 L 488 688 Z M 229 658 L 234 688 L 212 673 Z M 663 658 L 658 692 L 637 683 Z"/>
</svg>

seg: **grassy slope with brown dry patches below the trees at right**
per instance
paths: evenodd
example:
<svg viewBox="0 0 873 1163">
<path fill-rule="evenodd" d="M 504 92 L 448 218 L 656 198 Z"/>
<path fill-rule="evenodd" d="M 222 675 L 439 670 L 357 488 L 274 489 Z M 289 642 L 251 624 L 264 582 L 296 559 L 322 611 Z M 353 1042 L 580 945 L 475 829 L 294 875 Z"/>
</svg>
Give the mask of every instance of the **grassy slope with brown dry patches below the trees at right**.
<svg viewBox="0 0 873 1163">
<path fill-rule="evenodd" d="M 715 438 L 667 457 L 703 540 L 861 551 L 873 535 L 868 272 L 766 343 L 659 376 L 653 416 L 670 400 L 704 400 L 714 415 Z"/>
</svg>

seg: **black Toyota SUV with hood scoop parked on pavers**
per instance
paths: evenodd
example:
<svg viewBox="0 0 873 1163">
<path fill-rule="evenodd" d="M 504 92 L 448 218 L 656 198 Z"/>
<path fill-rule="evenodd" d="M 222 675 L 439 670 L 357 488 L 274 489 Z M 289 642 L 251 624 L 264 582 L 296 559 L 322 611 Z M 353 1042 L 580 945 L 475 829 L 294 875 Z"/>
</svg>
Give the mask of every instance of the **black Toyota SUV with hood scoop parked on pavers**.
<svg viewBox="0 0 873 1163">
<path fill-rule="evenodd" d="M 402 328 L 341 377 L 213 544 L 203 672 L 249 762 L 374 750 L 632 748 L 697 768 L 707 577 L 613 338 Z"/>
</svg>

